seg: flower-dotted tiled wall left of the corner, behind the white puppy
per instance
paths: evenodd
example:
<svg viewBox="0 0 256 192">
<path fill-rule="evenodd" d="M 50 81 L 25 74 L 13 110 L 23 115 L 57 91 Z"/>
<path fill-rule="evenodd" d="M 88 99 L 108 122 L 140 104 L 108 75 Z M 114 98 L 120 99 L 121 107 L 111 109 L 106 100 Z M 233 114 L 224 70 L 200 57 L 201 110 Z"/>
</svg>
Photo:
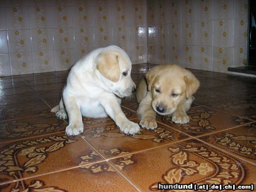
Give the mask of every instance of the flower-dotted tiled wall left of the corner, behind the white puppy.
<svg viewBox="0 0 256 192">
<path fill-rule="evenodd" d="M 110 44 L 147 62 L 146 0 L 0 0 L 0 76 L 66 70 Z"/>
</svg>

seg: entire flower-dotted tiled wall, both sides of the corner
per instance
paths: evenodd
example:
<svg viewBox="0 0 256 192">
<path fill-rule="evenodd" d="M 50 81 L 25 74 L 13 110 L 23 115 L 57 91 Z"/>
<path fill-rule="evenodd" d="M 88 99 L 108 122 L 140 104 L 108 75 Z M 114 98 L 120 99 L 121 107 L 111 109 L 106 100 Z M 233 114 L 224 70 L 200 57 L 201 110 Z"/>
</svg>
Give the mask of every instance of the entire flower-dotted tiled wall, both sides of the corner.
<svg viewBox="0 0 256 192">
<path fill-rule="evenodd" d="M 247 0 L 0 0 L 0 76 L 66 70 L 116 44 L 132 62 L 246 64 Z"/>
</svg>

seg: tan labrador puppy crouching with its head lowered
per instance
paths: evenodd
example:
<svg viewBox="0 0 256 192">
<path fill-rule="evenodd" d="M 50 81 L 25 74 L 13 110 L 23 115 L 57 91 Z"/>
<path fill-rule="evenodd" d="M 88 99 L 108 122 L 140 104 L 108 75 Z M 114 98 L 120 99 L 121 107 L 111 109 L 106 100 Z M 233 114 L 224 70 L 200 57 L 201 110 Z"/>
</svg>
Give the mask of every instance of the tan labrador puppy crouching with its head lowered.
<svg viewBox="0 0 256 192">
<path fill-rule="evenodd" d="M 146 129 L 155 129 L 155 112 L 159 115 L 172 115 L 175 123 L 188 123 L 187 111 L 199 85 L 197 78 L 181 66 L 155 66 L 138 85 L 136 97 L 141 120 L 139 124 Z"/>
</svg>

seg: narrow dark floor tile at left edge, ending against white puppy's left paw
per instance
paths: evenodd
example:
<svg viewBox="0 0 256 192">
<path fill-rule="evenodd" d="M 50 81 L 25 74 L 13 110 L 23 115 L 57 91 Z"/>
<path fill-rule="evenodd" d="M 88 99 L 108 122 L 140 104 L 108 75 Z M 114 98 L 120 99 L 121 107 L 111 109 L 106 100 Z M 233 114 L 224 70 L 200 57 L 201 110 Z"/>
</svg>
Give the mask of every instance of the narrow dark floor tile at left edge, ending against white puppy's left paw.
<svg viewBox="0 0 256 192">
<path fill-rule="evenodd" d="M 0 122 L 0 143 L 65 131 L 66 126 L 67 123 L 57 119 L 54 114 L 2 121 Z"/>
</svg>

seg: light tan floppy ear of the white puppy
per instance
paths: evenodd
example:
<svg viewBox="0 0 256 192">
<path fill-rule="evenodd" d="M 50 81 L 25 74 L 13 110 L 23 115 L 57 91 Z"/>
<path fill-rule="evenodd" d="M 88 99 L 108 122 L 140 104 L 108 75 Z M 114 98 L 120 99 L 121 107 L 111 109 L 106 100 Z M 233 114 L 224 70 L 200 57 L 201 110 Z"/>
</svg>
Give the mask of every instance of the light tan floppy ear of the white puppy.
<svg viewBox="0 0 256 192">
<path fill-rule="evenodd" d="M 113 51 L 100 53 L 96 57 L 97 69 L 101 74 L 113 82 L 119 80 L 119 54 Z"/>
</svg>

